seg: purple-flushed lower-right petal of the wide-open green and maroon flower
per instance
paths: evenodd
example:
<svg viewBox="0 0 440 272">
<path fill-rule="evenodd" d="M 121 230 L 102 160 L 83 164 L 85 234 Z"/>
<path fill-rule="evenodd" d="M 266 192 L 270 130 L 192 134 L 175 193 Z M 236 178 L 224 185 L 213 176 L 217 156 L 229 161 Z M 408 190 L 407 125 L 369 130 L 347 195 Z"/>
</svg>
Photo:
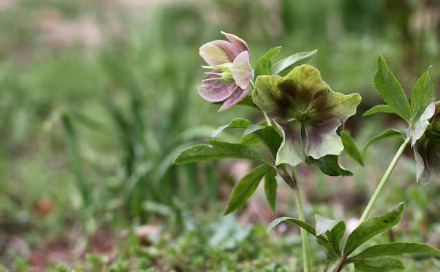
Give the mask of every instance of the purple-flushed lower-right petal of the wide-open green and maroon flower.
<svg viewBox="0 0 440 272">
<path fill-rule="evenodd" d="M 341 126 L 338 118 L 332 118 L 319 124 L 305 126 L 305 154 L 314 159 L 326 155 L 340 155 L 344 150 L 341 137 L 336 133 Z"/>
</svg>

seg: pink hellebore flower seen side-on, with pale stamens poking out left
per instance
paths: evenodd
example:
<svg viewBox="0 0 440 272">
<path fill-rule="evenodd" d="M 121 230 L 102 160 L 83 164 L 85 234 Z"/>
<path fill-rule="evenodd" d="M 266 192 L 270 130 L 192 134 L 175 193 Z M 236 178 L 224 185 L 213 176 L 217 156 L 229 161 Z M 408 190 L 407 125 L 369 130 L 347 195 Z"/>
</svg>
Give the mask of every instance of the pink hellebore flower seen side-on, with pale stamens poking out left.
<svg viewBox="0 0 440 272">
<path fill-rule="evenodd" d="M 210 102 L 225 100 L 219 111 L 237 104 L 249 91 L 251 66 L 248 44 L 241 38 L 221 32 L 228 41 L 211 41 L 199 49 L 200 56 L 212 71 L 197 87 L 199 95 Z"/>
</svg>

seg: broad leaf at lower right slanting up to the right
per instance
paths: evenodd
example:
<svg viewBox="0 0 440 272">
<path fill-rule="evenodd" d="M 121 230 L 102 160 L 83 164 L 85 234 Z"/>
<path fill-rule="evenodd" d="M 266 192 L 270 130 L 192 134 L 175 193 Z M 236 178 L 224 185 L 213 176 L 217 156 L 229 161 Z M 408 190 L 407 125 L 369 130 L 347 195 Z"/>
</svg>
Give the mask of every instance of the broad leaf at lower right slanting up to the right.
<svg viewBox="0 0 440 272">
<path fill-rule="evenodd" d="M 360 225 L 349 235 L 349 238 L 347 238 L 344 247 L 344 255 L 349 256 L 355 251 L 355 249 L 364 244 L 364 242 L 399 223 L 404 209 L 405 204 L 402 202 L 391 212 L 371 217 L 360 223 Z"/>
</svg>

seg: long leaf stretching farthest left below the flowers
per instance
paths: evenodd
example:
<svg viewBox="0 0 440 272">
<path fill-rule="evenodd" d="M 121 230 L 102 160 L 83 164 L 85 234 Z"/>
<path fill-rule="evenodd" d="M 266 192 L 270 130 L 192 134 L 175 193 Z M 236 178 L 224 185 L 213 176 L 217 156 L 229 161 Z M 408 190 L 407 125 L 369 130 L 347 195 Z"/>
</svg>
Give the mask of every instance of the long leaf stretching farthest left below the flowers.
<svg viewBox="0 0 440 272">
<path fill-rule="evenodd" d="M 245 144 L 231 144 L 224 141 L 208 140 L 208 144 L 198 144 L 182 150 L 174 159 L 174 164 L 190 163 L 195 161 L 210 161 L 212 159 L 253 159 L 269 166 L 270 161 L 260 150 Z"/>
</svg>

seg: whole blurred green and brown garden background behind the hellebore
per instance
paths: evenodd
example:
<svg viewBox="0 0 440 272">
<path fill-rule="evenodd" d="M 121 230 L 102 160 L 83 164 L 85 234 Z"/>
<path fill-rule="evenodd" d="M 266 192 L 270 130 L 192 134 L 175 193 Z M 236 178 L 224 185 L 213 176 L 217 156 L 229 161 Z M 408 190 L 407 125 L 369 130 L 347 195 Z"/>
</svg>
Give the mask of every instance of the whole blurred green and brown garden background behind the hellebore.
<svg viewBox="0 0 440 272">
<path fill-rule="evenodd" d="M 281 56 L 318 49 L 312 65 L 333 91 L 362 95 L 347 130 L 363 146 L 403 125 L 362 118 L 381 103 L 372 84 L 378 53 L 407 93 L 433 65 L 438 92 L 439 14 L 437 0 L 0 0 L 0 262 L 14 271 L 292 271 L 298 229 L 264 234 L 276 216 L 296 213 L 283 183 L 277 214 L 258 191 L 221 218 L 250 164 L 171 165 L 234 117 L 261 121 L 241 106 L 217 113 L 197 95 L 199 46 L 223 30 L 248 42 L 252 63 L 278 45 Z M 301 167 L 309 221 L 358 218 L 398 144 L 373 146 L 365 168 L 343 157 L 350 179 Z M 406 201 L 407 212 L 379 239 L 439 247 L 439 184 L 415 184 L 408 150 L 376 207 Z M 142 227 L 153 229 L 146 241 Z M 312 255 L 318 270 L 325 258 L 318 248 Z M 439 269 L 436 260 L 406 264 Z"/>
</svg>

